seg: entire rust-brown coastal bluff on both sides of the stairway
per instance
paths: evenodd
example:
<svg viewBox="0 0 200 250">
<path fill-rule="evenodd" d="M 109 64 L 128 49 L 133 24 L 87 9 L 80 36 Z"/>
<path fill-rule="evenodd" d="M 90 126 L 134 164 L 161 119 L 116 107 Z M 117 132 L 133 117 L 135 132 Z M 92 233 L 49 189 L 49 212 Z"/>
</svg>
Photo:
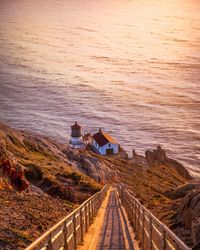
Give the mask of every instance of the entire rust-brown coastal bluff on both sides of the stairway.
<svg viewBox="0 0 200 250">
<path fill-rule="evenodd" d="M 27 183 L 19 192 L 0 177 L 0 248 L 27 246 L 103 184 L 119 182 L 186 244 L 200 240 L 200 184 L 160 146 L 144 156 L 101 156 L 3 124 L 0 145 L 0 159 L 20 166 Z"/>
</svg>

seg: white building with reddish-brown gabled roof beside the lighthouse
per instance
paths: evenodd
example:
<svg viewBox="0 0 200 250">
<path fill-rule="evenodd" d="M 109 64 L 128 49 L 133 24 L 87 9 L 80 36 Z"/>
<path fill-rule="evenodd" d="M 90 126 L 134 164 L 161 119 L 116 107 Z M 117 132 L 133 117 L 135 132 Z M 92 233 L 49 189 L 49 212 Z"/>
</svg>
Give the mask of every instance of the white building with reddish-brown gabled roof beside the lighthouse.
<svg viewBox="0 0 200 250">
<path fill-rule="evenodd" d="M 119 144 L 107 133 L 99 129 L 99 132 L 92 136 L 92 145 L 101 155 L 112 155 L 119 153 Z"/>
</svg>

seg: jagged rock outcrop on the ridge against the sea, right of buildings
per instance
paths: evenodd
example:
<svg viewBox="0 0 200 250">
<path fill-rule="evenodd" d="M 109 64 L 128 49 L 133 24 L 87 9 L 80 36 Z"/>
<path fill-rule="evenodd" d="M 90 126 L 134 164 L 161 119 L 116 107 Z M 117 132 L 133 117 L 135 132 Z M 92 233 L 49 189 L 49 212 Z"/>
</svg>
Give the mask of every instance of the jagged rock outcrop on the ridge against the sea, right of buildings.
<svg viewBox="0 0 200 250">
<path fill-rule="evenodd" d="M 161 146 L 158 146 L 157 149 L 154 149 L 153 151 L 147 150 L 145 152 L 145 159 L 149 166 L 155 166 L 158 164 L 169 164 L 170 166 L 176 168 L 177 172 L 186 179 L 192 179 L 188 170 L 181 163 L 169 158 L 166 155 L 165 150 L 162 149 Z"/>
</svg>

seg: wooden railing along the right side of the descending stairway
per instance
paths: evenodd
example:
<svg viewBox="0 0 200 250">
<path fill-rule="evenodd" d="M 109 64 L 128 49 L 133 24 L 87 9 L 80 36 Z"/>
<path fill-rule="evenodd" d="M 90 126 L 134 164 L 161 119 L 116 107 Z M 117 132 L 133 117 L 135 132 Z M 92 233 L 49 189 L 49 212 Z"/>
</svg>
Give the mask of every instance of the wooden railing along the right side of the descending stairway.
<svg viewBox="0 0 200 250">
<path fill-rule="evenodd" d="M 142 250 L 191 250 L 121 185 L 117 190 Z"/>
</svg>

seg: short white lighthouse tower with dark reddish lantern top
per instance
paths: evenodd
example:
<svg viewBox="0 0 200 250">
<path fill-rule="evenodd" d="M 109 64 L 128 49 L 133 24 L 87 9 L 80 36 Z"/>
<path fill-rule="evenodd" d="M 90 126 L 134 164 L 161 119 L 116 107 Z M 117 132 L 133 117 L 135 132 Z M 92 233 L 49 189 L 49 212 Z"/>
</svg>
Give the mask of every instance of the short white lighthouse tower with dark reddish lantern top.
<svg viewBox="0 0 200 250">
<path fill-rule="evenodd" d="M 77 122 L 71 126 L 70 146 L 72 148 L 83 148 L 82 128 Z"/>
</svg>

